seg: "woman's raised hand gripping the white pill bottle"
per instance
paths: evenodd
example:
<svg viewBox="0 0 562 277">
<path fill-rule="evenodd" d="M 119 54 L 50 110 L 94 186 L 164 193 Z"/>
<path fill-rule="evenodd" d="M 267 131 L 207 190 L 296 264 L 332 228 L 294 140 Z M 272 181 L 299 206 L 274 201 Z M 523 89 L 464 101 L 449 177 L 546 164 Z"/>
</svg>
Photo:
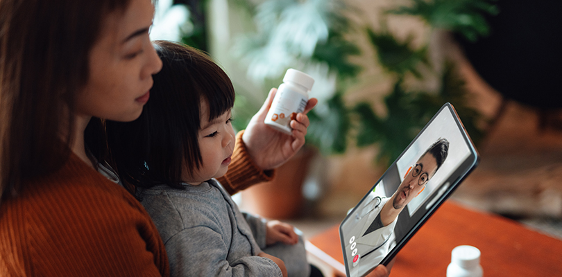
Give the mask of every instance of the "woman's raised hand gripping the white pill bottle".
<svg viewBox="0 0 562 277">
<path fill-rule="evenodd" d="M 310 124 L 306 114 L 318 102 L 316 98 L 308 100 L 305 111 L 297 114 L 296 120 L 291 120 L 290 126 L 293 128 L 293 134 L 289 136 L 268 127 L 264 123 L 275 93 L 277 93 L 277 89 L 269 91 L 264 105 L 252 117 L 242 136 L 242 141 L 246 144 L 248 154 L 250 154 L 256 166 L 262 170 L 271 170 L 281 166 L 305 145 L 305 135 Z"/>
</svg>

